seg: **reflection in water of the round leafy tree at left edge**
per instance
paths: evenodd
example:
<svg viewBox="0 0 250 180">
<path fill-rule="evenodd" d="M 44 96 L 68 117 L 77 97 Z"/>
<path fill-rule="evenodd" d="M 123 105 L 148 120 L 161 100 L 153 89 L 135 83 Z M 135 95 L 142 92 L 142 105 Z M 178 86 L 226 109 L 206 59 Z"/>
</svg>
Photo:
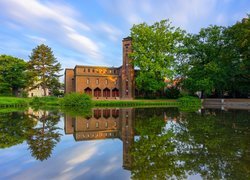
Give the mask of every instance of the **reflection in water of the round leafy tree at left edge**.
<svg viewBox="0 0 250 180">
<path fill-rule="evenodd" d="M 24 112 L 0 113 L 0 148 L 22 143 L 34 125 Z"/>
</svg>

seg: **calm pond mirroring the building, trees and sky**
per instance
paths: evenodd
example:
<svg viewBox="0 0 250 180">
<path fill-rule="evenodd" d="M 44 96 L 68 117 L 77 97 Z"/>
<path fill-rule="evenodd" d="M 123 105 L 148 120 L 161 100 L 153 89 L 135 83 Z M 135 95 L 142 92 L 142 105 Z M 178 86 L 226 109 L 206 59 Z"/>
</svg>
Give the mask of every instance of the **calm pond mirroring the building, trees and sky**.
<svg viewBox="0 0 250 180">
<path fill-rule="evenodd" d="M 0 179 L 250 179 L 250 112 L 0 112 Z"/>
</svg>

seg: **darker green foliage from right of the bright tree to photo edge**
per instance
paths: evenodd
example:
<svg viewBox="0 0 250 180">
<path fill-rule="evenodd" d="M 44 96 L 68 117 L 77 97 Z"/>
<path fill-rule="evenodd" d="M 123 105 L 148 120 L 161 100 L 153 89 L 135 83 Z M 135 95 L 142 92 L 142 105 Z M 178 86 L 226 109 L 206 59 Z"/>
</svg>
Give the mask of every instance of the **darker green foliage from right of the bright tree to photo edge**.
<svg viewBox="0 0 250 180">
<path fill-rule="evenodd" d="M 247 97 L 250 93 L 250 21 L 231 27 L 209 26 L 185 38 L 176 58 L 177 72 L 190 93 L 202 97 Z"/>
</svg>

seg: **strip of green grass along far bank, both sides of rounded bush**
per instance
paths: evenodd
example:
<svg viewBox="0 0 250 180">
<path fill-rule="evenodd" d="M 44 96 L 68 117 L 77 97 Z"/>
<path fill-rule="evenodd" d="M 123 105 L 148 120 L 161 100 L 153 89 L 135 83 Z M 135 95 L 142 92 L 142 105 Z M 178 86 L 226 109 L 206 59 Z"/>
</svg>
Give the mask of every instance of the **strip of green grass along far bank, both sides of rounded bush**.
<svg viewBox="0 0 250 180">
<path fill-rule="evenodd" d="M 36 98 L 17 98 L 0 97 L 0 107 L 44 107 L 61 106 L 61 99 L 57 97 L 36 97 Z M 201 106 L 201 101 L 194 97 L 182 97 L 178 100 L 157 99 L 157 100 L 93 100 L 95 107 L 180 107 L 190 109 Z"/>
</svg>

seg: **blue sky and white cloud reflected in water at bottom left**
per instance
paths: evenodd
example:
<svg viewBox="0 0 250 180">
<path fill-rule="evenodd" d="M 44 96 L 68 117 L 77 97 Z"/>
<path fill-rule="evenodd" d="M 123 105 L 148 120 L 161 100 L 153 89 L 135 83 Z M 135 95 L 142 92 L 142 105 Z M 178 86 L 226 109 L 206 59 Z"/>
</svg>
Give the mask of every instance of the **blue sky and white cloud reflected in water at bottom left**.
<svg viewBox="0 0 250 180">
<path fill-rule="evenodd" d="M 5 177 L 8 179 L 130 178 L 130 172 L 122 169 L 122 142 L 119 139 L 68 141 L 66 146 L 65 143 L 59 143 L 55 149 L 58 152 L 43 162 L 32 161 L 33 158 L 27 159 L 27 156 L 25 159 L 21 157 L 15 159 L 14 163 L 22 168 L 13 170 L 11 168 L 14 167 L 13 164 L 8 164 L 6 169 L 11 169 L 11 172 Z"/>
</svg>

